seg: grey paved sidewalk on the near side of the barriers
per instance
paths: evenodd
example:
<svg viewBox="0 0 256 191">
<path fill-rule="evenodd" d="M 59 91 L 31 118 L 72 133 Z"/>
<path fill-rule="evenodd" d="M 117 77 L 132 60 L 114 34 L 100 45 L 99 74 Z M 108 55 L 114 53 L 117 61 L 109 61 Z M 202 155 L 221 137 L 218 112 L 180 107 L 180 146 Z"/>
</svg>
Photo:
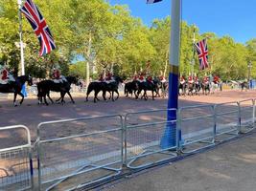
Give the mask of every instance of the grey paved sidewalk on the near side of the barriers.
<svg viewBox="0 0 256 191">
<path fill-rule="evenodd" d="M 256 191 L 256 131 L 101 190 Z"/>
</svg>

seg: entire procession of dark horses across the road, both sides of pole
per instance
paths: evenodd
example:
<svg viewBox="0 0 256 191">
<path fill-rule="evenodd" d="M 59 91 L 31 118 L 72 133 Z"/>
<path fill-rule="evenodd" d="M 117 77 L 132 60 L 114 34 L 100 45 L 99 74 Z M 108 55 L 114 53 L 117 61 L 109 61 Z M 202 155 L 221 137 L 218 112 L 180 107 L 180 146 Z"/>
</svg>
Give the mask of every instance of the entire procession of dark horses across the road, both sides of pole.
<svg viewBox="0 0 256 191">
<path fill-rule="evenodd" d="M 47 97 L 50 99 L 52 103 L 54 103 L 53 99 L 50 96 L 51 91 L 60 93 L 58 100 L 60 103 L 64 103 L 64 96 L 68 95 L 73 103 L 75 103 L 73 97 L 70 94 L 71 84 L 79 85 L 79 78 L 75 76 L 67 76 L 66 81 L 62 83 L 55 83 L 51 79 L 42 80 L 37 83 L 37 98 L 38 103 L 44 103 L 48 105 Z M 21 90 L 25 82 L 28 82 L 29 85 L 33 85 L 33 79 L 30 75 L 21 75 L 16 77 L 15 81 L 12 81 L 8 84 L 0 84 L 0 93 L 13 93 L 13 104 L 14 106 L 17 105 L 16 103 L 16 96 L 21 96 L 21 100 L 19 104 L 22 104 L 24 100 L 24 95 L 22 94 Z M 106 93 L 109 94 L 108 99 L 112 99 L 113 101 L 118 99 L 119 97 L 119 85 L 123 83 L 123 79 L 119 76 L 114 76 L 113 80 L 110 81 L 92 81 L 89 83 L 87 87 L 87 92 L 85 96 L 85 100 L 88 101 L 88 96 L 94 92 L 93 101 L 97 102 L 100 100 L 98 95 L 102 92 L 104 100 L 106 100 Z M 203 81 L 199 80 L 198 82 L 189 83 L 185 81 L 183 83 L 179 82 L 178 85 L 178 95 L 179 96 L 193 96 L 199 95 L 200 91 L 203 95 L 209 95 L 214 93 L 217 89 L 221 88 L 219 83 L 215 82 L 208 82 L 204 83 Z M 248 83 L 242 83 L 241 88 L 248 89 Z M 135 99 L 139 97 L 142 99 L 144 98 L 147 100 L 149 97 L 147 92 L 151 92 L 151 98 L 154 99 L 156 96 L 165 97 L 168 94 L 168 82 L 161 81 L 159 78 L 155 77 L 153 80 L 129 80 L 125 83 L 125 96 L 133 96 Z M 116 96 L 115 96 L 116 95 Z"/>
</svg>

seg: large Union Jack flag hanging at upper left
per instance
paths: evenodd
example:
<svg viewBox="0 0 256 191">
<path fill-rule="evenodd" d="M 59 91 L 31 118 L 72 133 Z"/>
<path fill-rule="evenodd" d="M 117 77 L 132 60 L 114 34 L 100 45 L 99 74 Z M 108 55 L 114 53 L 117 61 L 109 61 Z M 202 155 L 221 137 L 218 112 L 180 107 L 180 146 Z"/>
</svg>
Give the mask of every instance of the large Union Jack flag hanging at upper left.
<svg viewBox="0 0 256 191">
<path fill-rule="evenodd" d="M 39 55 L 50 53 L 52 50 L 56 49 L 53 35 L 41 12 L 37 9 L 32 0 L 26 0 L 24 6 L 21 8 L 21 12 L 30 22 L 39 40 L 41 46 Z"/>
</svg>

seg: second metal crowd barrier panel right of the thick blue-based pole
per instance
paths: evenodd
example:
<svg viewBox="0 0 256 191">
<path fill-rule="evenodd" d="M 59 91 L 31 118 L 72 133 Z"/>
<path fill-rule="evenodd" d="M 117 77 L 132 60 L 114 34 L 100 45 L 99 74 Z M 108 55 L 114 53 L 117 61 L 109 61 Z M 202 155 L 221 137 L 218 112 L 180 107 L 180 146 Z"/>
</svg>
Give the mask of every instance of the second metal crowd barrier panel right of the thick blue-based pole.
<svg viewBox="0 0 256 191">
<path fill-rule="evenodd" d="M 234 138 L 240 131 L 240 107 L 238 102 L 216 104 L 215 141 Z"/>
</svg>

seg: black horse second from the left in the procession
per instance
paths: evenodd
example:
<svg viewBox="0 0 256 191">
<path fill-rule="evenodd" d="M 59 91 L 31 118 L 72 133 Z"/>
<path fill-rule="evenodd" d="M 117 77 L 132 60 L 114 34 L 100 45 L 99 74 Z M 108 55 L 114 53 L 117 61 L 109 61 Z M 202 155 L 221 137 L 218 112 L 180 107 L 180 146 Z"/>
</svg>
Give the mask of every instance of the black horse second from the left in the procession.
<svg viewBox="0 0 256 191">
<path fill-rule="evenodd" d="M 67 76 L 67 81 L 63 81 L 62 83 L 55 83 L 53 80 L 42 80 L 39 83 L 37 83 L 37 97 L 38 97 L 38 103 L 42 102 L 42 97 L 44 98 L 44 102 L 46 105 L 48 105 L 48 102 L 46 100 L 46 96 L 51 100 L 52 103 L 54 103 L 53 99 L 50 96 L 50 91 L 59 92 L 60 98 L 58 98 L 57 101 L 59 101 L 63 104 L 64 103 L 64 96 L 68 94 L 70 97 L 72 103 L 75 103 L 73 97 L 70 94 L 71 84 L 77 84 L 78 79 L 75 76 Z"/>
</svg>

